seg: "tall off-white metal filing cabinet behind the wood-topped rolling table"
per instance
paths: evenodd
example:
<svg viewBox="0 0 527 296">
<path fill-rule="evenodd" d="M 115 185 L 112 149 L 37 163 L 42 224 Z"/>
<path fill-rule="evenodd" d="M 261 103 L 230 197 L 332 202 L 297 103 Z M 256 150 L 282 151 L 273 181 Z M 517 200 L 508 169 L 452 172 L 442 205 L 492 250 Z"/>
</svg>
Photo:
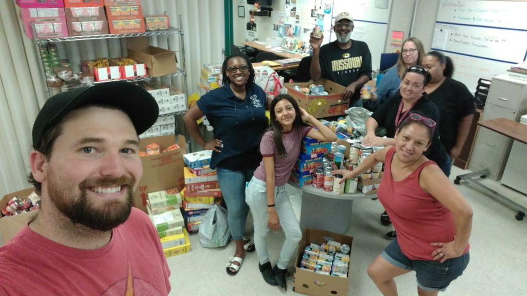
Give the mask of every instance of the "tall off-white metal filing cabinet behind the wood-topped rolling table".
<svg viewBox="0 0 527 296">
<path fill-rule="evenodd" d="M 482 120 L 506 118 L 518 122 L 527 113 L 527 81 L 497 75 L 487 96 Z M 469 169 L 489 169 L 492 180 L 500 180 L 511 152 L 512 139 L 489 129 L 478 128 Z"/>
</svg>

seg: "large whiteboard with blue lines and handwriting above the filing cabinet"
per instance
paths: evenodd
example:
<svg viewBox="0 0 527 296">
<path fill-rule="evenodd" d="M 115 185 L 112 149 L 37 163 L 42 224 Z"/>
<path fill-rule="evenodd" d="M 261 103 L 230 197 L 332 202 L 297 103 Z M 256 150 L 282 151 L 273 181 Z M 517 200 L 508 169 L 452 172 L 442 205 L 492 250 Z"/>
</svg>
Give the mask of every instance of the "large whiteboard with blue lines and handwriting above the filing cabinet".
<svg viewBox="0 0 527 296">
<path fill-rule="evenodd" d="M 527 2 L 441 0 L 432 50 L 454 62 L 453 78 L 475 92 L 527 56 Z"/>
</svg>

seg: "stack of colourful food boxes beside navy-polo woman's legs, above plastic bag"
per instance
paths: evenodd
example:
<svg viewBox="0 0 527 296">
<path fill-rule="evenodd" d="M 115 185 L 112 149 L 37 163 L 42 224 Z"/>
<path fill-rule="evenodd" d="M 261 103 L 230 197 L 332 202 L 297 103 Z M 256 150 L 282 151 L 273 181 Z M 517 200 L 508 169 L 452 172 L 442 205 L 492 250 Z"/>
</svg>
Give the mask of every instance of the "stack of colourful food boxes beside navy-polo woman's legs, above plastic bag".
<svg viewBox="0 0 527 296">
<path fill-rule="evenodd" d="M 207 211 L 221 202 L 218 175 L 209 167 L 212 150 L 183 155 L 183 218 L 189 232 L 197 232 Z"/>
</svg>

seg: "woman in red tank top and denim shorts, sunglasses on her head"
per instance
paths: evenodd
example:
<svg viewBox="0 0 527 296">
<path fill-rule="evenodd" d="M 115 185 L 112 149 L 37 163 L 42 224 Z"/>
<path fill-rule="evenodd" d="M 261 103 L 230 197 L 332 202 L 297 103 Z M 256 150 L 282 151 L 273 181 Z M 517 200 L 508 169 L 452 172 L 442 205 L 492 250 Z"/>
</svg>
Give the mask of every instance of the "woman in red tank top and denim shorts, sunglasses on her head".
<svg viewBox="0 0 527 296">
<path fill-rule="evenodd" d="M 397 239 L 368 267 L 384 295 L 397 295 L 393 280 L 415 270 L 418 294 L 437 295 L 467 267 L 472 208 L 440 167 L 423 153 L 436 123 L 411 113 L 397 127 L 395 146 L 375 152 L 356 170 L 333 174 L 353 178 L 378 162 L 385 163 L 378 197 L 392 218 Z"/>
</svg>

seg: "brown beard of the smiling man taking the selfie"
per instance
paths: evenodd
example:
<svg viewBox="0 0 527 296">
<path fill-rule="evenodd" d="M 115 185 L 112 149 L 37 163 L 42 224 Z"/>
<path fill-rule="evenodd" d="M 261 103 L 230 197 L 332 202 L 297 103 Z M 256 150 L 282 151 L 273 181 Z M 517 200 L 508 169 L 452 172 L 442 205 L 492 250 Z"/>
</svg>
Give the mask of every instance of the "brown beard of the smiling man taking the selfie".
<svg viewBox="0 0 527 296">
<path fill-rule="evenodd" d="M 60 182 L 62 186 L 57 181 Z M 116 184 L 121 186 L 126 185 L 127 193 L 124 202 L 113 200 L 104 203 L 103 208 L 101 209 L 95 208 L 93 202 L 88 200 L 88 186 L 96 188 L 99 186 L 115 186 Z M 90 182 L 90 185 L 88 185 L 87 180 L 84 180 L 79 184 L 81 194 L 75 198 L 74 190 L 65 188 L 68 184 L 61 182 L 61 180 L 51 178 L 50 182 L 48 182 L 47 192 L 55 207 L 69 218 L 71 222 L 82 224 L 93 230 L 109 231 L 128 219 L 132 210 L 132 190 L 134 184 L 135 179 L 133 176 L 121 176 L 119 178 L 106 177 L 104 179 Z"/>
</svg>

